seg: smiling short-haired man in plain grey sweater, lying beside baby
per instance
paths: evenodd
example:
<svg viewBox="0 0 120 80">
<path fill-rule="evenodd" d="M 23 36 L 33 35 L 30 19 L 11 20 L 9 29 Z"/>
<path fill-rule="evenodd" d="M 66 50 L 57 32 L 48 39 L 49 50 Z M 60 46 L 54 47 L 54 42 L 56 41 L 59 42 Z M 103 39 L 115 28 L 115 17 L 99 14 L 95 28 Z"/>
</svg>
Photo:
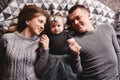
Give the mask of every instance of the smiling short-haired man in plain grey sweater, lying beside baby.
<svg viewBox="0 0 120 80">
<path fill-rule="evenodd" d="M 79 80 L 120 80 L 120 48 L 111 25 L 92 25 L 90 13 L 83 5 L 69 10 L 70 29 L 81 46 L 83 72 Z"/>
</svg>

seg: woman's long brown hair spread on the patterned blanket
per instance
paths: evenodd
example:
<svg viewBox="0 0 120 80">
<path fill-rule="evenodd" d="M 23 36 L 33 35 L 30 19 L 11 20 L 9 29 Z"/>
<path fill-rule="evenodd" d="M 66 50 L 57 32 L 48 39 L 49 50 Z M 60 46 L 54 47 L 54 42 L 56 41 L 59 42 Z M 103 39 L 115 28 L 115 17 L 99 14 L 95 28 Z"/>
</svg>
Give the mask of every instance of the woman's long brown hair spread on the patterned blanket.
<svg viewBox="0 0 120 80">
<path fill-rule="evenodd" d="M 26 28 L 26 20 L 31 20 L 39 15 L 48 18 L 48 13 L 36 5 L 25 5 L 18 15 L 17 30 L 22 32 Z"/>
</svg>

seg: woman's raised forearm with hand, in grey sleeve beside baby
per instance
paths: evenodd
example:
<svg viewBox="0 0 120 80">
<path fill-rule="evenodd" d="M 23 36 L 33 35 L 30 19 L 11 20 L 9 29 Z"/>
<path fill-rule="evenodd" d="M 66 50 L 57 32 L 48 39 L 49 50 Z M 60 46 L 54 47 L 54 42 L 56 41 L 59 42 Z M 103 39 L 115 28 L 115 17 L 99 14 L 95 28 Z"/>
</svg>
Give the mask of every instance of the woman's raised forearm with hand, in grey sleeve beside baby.
<svg viewBox="0 0 120 80">
<path fill-rule="evenodd" d="M 35 62 L 35 72 L 40 75 L 42 69 L 45 67 L 48 61 L 49 54 L 49 38 L 47 35 L 41 35 L 40 46 L 37 49 L 37 59 Z"/>
</svg>

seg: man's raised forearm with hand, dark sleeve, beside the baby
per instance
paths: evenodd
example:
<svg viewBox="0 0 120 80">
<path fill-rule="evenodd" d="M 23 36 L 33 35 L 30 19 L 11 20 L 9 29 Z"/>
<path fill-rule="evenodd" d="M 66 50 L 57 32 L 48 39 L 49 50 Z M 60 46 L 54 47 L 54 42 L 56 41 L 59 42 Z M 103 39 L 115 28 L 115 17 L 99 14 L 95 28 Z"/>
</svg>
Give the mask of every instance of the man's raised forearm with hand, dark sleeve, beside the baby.
<svg viewBox="0 0 120 80">
<path fill-rule="evenodd" d="M 82 72 L 82 66 L 81 66 L 81 60 L 80 60 L 81 46 L 73 38 L 68 39 L 68 46 L 71 51 L 70 65 L 73 69 L 73 72 L 80 75 Z"/>
</svg>

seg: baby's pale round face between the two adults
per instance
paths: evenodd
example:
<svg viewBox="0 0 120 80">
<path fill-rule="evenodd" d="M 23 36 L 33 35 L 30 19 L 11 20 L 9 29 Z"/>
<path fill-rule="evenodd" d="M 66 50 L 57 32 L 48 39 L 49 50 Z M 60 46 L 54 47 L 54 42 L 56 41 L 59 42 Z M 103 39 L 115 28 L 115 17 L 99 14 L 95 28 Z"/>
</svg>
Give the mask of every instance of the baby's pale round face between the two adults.
<svg viewBox="0 0 120 80">
<path fill-rule="evenodd" d="M 60 16 L 55 16 L 57 21 L 53 21 L 50 23 L 50 31 L 53 34 L 60 34 L 64 30 L 64 21 Z"/>
</svg>

